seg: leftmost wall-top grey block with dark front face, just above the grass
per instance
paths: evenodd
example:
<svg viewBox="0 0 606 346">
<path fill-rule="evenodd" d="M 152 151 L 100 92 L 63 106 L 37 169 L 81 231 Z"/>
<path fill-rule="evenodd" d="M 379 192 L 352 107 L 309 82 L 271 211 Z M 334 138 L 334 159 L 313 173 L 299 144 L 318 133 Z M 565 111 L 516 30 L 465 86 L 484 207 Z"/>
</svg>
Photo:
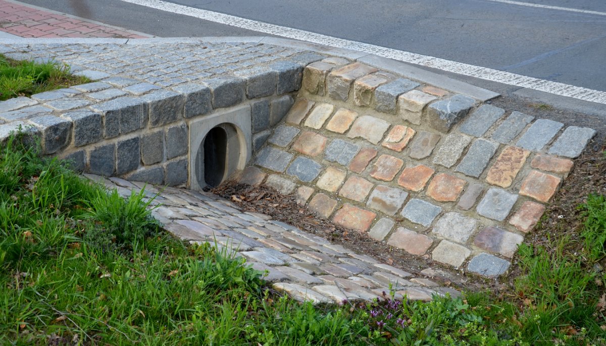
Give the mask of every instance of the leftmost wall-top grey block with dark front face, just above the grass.
<svg viewBox="0 0 606 346">
<path fill-rule="evenodd" d="M 56 116 L 41 116 L 30 122 L 42 135 L 43 154 L 53 154 L 69 144 L 72 137 L 72 122 Z"/>
</svg>

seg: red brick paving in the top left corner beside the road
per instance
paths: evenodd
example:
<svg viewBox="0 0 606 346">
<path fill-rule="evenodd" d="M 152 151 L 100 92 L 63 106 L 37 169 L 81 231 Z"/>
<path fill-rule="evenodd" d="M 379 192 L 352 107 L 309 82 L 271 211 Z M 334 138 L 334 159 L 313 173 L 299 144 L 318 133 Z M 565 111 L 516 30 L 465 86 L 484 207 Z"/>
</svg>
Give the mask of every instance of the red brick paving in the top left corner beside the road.
<svg viewBox="0 0 606 346">
<path fill-rule="evenodd" d="M 0 31 L 22 38 L 147 38 L 7 0 L 0 0 Z"/>
</svg>

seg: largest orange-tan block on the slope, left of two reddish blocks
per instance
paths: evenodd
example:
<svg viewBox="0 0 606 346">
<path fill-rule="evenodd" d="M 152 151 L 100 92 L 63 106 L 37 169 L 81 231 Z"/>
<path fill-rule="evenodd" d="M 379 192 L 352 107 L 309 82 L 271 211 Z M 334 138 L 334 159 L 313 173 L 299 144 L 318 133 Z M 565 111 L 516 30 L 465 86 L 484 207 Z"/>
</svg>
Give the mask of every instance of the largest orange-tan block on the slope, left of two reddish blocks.
<svg viewBox="0 0 606 346">
<path fill-rule="evenodd" d="M 507 146 L 488 170 L 486 181 L 489 184 L 508 188 L 524 166 L 530 151 L 516 146 Z"/>
</svg>

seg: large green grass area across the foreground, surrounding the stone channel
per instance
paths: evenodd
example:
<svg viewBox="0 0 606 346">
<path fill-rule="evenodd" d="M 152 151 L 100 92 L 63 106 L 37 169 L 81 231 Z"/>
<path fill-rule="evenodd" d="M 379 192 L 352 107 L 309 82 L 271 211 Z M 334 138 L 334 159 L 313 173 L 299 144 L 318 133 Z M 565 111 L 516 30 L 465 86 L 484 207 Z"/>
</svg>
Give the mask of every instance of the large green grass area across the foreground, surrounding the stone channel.
<svg viewBox="0 0 606 346">
<path fill-rule="evenodd" d="M 578 238 L 520 248 L 509 293 L 314 307 L 165 233 L 144 191 L 121 198 L 23 143 L 0 146 L 2 345 L 605 344 L 604 196 L 579 206 Z"/>
</svg>

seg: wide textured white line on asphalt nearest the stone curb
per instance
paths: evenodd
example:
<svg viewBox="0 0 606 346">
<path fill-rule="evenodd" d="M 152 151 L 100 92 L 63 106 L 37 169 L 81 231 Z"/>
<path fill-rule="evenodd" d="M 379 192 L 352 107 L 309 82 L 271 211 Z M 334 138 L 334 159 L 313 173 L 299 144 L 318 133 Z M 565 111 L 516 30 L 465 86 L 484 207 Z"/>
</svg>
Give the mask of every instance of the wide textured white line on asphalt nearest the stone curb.
<svg viewBox="0 0 606 346">
<path fill-rule="evenodd" d="M 464 74 L 465 76 L 476 77 L 493 82 L 505 83 L 521 88 L 530 88 L 533 90 L 544 91 L 546 93 L 559 96 L 573 97 L 574 99 L 606 104 L 606 92 L 591 90 L 582 87 L 575 87 L 550 80 L 538 79 L 534 77 L 522 76 L 505 71 L 494 70 L 492 68 L 479 67 L 463 64 L 451 60 L 440 59 L 439 57 L 425 56 L 422 54 L 410 53 L 407 51 L 385 48 L 378 45 L 365 44 L 362 42 L 339 39 L 333 36 L 311 33 L 299 29 L 282 27 L 281 25 L 268 24 L 252 19 L 246 19 L 224 13 L 202 10 L 201 8 L 188 7 L 185 5 L 173 4 L 162 0 L 121 0 L 131 4 L 142 5 L 155 8 L 156 10 L 176 13 L 178 15 L 191 16 L 205 21 L 211 21 L 219 24 L 230 25 L 232 27 L 244 28 L 247 30 L 258 31 L 265 34 L 281 36 L 283 38 L 297 39 L 300 41 L 312 42 L 315 44 L 327 45 L 330 47 L 347 48 L 364 53 L 376 54 L 410 64 L 418 64 L 426 67 L 438 68 L 448 72 Z M 493 0 L 491 0 L 493 1 Z M 497 0 L 494 0 L 497 1 Z M 499 0 L 506 1 L 506 0 Z"/>
</svg>

